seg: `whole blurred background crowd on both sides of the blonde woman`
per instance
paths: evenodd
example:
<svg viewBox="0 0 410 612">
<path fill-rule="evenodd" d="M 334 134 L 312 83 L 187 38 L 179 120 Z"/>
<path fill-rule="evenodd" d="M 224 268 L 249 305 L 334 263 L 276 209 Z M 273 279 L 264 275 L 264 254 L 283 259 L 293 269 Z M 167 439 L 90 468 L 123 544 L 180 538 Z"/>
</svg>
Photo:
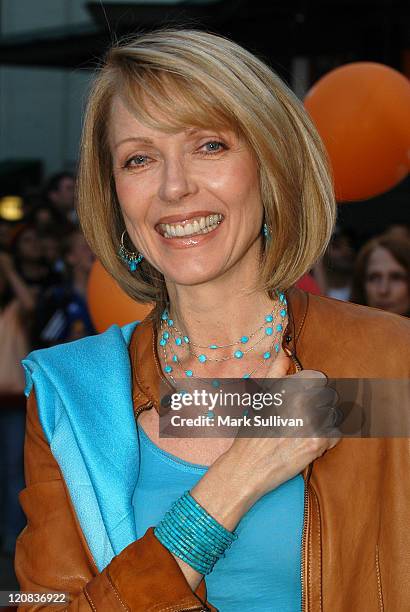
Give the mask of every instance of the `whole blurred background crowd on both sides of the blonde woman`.
<svg viewBox="0 0 410 612">
<path fill-rule="evenodd" d="M 24 200 L 20 222 L 0 218 L 0 550 L 12 555 L 24 526 L 24 374 L 33 349 L 95 333 L 86 300 L 93 255 L 79 229 L 75 178 L 59 173 Z M 410 226 L 359 244 L 337 226 L 308 291 L 410 315 Z"/>
</svg>

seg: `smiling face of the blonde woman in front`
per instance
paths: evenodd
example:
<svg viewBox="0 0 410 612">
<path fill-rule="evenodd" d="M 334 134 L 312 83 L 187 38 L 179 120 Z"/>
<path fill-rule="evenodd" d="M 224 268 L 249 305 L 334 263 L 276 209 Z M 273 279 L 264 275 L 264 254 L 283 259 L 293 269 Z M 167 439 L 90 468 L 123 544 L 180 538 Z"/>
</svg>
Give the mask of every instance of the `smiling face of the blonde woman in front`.
<svg viewBox="0 0 410 612">
<path fill-rule="evenodd" d="M 210 126 L 167 134 L 138 122 L 116 99 L 110 145 L 128 235 L 167 280 L 195 285 L 239 261 L 255 265 L 263 218 L 258 168 L 234 132 Z"/>
</svg>

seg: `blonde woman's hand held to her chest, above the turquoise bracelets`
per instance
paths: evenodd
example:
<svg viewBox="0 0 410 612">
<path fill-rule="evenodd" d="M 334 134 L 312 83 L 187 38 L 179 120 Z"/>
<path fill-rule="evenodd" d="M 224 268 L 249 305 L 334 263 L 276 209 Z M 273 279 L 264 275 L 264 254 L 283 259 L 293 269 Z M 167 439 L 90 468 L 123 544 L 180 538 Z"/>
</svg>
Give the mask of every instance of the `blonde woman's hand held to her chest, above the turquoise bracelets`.
<svg viewBox="0 0 410 612">
<path fill-rule="evenodd" d="M 286 376 L 288 368 L 288 357 L 279 353 L 269 376 L 281 380 L 268 382 L 276 390 L 284 388 L 288 410 L 292 414 L 296 410 L 308 421 L 308 429 L 303 429 L 306 437 L 265 433 L 263 437 L 245 438 L 239 434 L 191 491 L 229 530 L 260 497 L 299 474 L 340 440 L 333 426 L 337 396 L 327 387 L 326 376 L 313 370 Z"/>
</svg>

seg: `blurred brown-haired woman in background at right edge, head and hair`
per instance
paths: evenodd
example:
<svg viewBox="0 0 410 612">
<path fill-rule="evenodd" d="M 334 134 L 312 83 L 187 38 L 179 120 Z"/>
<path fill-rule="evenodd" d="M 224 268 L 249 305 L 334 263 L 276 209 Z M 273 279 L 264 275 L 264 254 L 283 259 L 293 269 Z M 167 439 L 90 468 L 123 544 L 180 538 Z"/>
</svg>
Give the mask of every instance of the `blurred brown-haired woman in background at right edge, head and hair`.
<svg viewBox="0 0 410 612">
<path fill-rule="evenodd" d="M 382 235 L 357 256 L 352 302 L 410 315 L 410 240 Z"/>
</svg>

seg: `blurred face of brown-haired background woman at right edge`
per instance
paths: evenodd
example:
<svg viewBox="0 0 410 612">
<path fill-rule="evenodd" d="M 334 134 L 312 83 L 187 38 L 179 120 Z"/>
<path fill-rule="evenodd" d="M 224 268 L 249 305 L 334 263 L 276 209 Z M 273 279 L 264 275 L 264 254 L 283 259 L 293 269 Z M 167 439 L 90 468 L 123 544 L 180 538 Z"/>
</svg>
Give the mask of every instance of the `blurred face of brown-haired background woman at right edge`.
<svg viewBox="0 0 410 612">
<path fill-rule="evenodd" d="M 368 306 L 402 315 L 410 310 L 406 269 L 381 246 L 372 251 L 367 262 L 365 291 Z"/>
</svg>

